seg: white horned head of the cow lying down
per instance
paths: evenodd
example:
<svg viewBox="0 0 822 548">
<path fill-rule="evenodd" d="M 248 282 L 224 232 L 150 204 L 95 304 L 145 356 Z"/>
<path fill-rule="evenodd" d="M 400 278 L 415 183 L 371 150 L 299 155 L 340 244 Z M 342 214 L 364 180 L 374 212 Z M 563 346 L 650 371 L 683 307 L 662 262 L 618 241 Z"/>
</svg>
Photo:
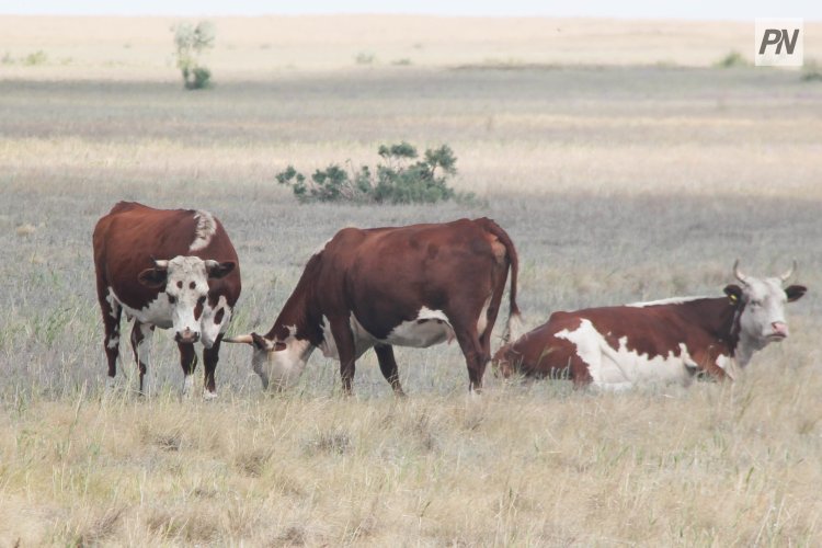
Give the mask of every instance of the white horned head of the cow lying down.
<svg viewBox="0 0 822 548">
<path fill-rule="evenodd" d="M 796 270 L 796 261 L 785 274 L 776 277 L 757 278 L 746 276 L 739 270 L 739 260 L 733 265 L 733 275 L 741 285 L 731 284 L 724 288 L 726 295 L 740 310 L 740 341 L 758 350 L 772 341 L 788 336 L 785 320 L 785 304 L 804 295 L 801 285 L 783 287 Z"/>
</svg>

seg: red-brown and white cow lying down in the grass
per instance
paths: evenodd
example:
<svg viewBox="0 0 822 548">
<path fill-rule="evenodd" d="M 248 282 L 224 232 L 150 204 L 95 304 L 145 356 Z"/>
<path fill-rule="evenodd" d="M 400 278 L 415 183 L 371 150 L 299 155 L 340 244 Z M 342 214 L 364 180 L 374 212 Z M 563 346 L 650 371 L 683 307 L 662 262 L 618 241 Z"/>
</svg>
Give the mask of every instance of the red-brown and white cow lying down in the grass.
<svg viewBox="0 0 822 548">
<path fill-rule="evenodd" d="M 555 312 L 546 323 L 501 347 L 496 374 L 570 378 L 574 386 L 625 389 L 653 383 L 690 384 L 695 376 L 733 378 L 754 352 L 788 336 L 785 304 L 806 287 L 739 270 L 724 297 L 686 297 Z"/>
</svg>

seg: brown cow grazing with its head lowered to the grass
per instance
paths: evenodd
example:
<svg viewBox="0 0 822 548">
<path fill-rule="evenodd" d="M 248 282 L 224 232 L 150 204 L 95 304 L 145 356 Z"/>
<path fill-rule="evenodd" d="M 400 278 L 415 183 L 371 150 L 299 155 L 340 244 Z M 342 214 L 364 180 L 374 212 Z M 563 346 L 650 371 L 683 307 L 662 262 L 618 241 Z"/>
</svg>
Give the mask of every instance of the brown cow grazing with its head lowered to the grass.
<svg viewBox="0 0 822 548">
<path fill-rule="evenodd" d="M 479 391 L 509 267 L 511 330 L 520 318 L 518 261 L 494 221 L 345 228 L 309 259 L 267 334 L 226 341 L 251 344 L 263 388 L 277 389 L 294 383 L 319 347 L 340 361 L 345 393 L 355 361 L 374 346 L 383 375 L 402 396 L 393 345 L 427 347 L 456 339 L 469 390 Z"/>
</svg>

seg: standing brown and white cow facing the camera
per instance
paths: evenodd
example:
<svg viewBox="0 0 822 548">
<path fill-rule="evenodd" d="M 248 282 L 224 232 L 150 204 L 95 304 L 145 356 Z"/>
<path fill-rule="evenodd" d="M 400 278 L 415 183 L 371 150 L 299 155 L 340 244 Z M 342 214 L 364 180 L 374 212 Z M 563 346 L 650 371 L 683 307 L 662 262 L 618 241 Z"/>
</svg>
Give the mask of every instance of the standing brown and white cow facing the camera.
<svg viewBox="0 0 822 548">
<path fill-rule="evenodd" d="M 205 390 L 216 397 L 214 372 L 222 334 L 240 296 L 240 263 L 220 221 L 208 212 L 155 209 L 119 202 L 94 227 L 94 269 L 103 313 L 107 386 L 114 386 L 119 322 L 130 320 L 132 346 L 146 393 L 148 349 L 155 328 L 172 329 L 183 368 L 183 395 L 191 392 L 203 346 Z"/>
</svg>

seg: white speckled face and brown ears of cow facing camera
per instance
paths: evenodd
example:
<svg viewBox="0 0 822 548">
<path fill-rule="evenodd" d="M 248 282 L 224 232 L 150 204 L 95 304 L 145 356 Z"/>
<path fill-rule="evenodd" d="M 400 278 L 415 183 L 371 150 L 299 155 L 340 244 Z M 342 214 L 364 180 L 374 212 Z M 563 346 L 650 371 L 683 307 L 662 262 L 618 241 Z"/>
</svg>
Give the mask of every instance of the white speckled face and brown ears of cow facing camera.
<svg viewBox="0 0 822 548">
<path fill-rule="evenodd" d="M 207 302 L 208 281 L 221 278 L 233 269 L 233 262 L 219 263 L 210 259 L 204 261 L 197 256 L 178 255 L 169 261 L 155 260 L 155 266 L 140 272 L 138 281 L 147 287 L 161 289 L 158 298 L 168 299 L 174 340 L 195 343 L 202 338 L 203 344 L 210 346 L 217 336 L 213 333 L 214 327 L 205 332 L 201 327 L 204 311 L 210 308 Z M 213 324 L 214 315 L 218 311 L 215 309 L 212 312 Z"/>
</svg>

